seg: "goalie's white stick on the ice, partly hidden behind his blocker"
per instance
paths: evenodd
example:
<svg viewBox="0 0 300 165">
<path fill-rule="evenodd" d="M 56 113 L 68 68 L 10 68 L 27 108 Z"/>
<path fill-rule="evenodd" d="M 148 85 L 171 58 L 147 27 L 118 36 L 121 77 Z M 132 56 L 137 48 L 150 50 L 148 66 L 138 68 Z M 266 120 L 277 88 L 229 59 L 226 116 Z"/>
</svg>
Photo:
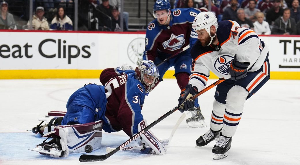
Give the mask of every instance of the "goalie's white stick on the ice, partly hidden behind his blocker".
<svg viewBox="0 0 300 165">
<path fill-rule="evenodd" d="M 171 134 L 170 134 L 170 137 L 168 139 L 164 139 L 164 140 L 160 140 L 161 143 L 163 143 L 164 146 L 169 146 L 170 145 L 170 142 L 172 140 L 172 137 L 174 136 L 178 126 L 181 124 L 182 120 L 185 118 L 186 114 L 183 113 L 180 118 L 178 119 L 178 121 L 176 122 Z M 121 151 L 128 151 L 128 150 L 136 150 L 136 149 L 143 149 L 144 146 L 129 146 L 129 147 L 124 147 Z M 106 152 L 112 152 L 114 149 L 116 148 L 110 148 L 110 147 L 107 147 L 106 148 Z"/>
</svg>

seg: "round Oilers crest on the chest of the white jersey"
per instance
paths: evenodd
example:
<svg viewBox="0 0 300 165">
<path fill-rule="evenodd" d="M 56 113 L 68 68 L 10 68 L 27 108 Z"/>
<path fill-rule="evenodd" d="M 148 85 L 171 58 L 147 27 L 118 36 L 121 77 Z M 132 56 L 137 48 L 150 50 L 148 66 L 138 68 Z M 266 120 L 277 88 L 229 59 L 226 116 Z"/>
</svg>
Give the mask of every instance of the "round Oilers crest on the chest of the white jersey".
<svg viewBox="0 0 300 165">
<path fill-rule="evenodd" d="M 214 68 L 222 73 L 222 74 L 229 74 L 228 69 L 230 68 L 231 60 L 233 59 L 233 56 L 231 55 L 221 55 L 214 61 Z"/>
</svg>

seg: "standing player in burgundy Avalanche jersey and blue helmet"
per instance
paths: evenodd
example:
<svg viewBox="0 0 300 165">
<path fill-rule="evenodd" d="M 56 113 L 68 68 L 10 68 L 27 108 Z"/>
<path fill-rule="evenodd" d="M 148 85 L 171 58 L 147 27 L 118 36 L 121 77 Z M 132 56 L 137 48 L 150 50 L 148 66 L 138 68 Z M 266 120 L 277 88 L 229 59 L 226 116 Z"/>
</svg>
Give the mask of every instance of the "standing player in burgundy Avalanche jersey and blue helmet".
<svg viewBox="0 0 300 165">
<path fill-rule="evenodd" d="M 168 0 L 157 0 L 153 6 L 153 15 L 156 19 L 149 23 L 146 30 L 146 49 L 143 59 L 152 60 L 157 65 L 184 47 L 193 46 L 197 34 L 192 31 L 191 24 L 198 13 L 200 10 L 196 8 L 170 10 Z M 182 90 L 188 83 L 192 60 L 190 49 L 187 49 L 170 58 L 169 61 L 165 61 L 158 66 L 160 73 L 158 83 L 163 80 L 166 71 L 174 66 L 177 84 Z M 180 109 L 180 111 L 184 110 Z M 197 100 L 195 107 L 190 108 L 189 111 L 192 117 L 186 122 L 190 127 L 207 126 Z"/>
</svg>

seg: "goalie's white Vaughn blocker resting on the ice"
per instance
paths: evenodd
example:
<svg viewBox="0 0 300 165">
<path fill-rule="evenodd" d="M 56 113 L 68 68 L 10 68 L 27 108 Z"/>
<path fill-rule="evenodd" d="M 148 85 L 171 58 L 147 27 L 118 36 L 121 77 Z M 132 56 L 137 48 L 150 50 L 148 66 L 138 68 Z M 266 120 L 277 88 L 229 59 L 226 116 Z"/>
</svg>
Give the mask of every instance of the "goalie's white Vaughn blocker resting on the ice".
<svg viewBox="0 0 300 165">
<path fill-rule="evenodd" d="M 147 121 L 143 120 L 138 125 L 138 131 L 140 132 L 142 129 L 147 127 Z M 146 143 L 146 146 L 150 146 L 153 151 L 155 151 L 158 155 L 164 155 L 167 152 L 167 149 L 164 145 L 158 140 L 158 138 L 153 134 L 152 131 L 148 130 L 144 134 L 141 135 L 142 141 L 141 143 Z"/>
</svg>

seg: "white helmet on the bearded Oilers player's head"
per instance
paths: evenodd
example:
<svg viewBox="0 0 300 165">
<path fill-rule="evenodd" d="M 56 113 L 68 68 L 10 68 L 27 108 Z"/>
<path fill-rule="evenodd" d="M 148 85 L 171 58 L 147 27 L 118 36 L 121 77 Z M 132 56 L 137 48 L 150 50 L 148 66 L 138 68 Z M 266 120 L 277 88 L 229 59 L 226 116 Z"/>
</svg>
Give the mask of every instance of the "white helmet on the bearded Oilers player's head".
<svg viewBox="0 0 300 165">
<path fill-rule="evenodd" d="M 206 12 L 199 13 L 195 17 L 194 22 L 192 24 L 192 28 L 193 28 L 194 31 L 205 29 L 208 32 L 208 35 L 210 37 L 212 37 L 210 35 L 210 27 L 212 25 L 216 27 L 216 31 L 217 31 L 217 28 L 218 28 L 218 19 L 214 15 L 214 13 L 212 13 L 210 11 L 206 11 Z"/>
</svg>

